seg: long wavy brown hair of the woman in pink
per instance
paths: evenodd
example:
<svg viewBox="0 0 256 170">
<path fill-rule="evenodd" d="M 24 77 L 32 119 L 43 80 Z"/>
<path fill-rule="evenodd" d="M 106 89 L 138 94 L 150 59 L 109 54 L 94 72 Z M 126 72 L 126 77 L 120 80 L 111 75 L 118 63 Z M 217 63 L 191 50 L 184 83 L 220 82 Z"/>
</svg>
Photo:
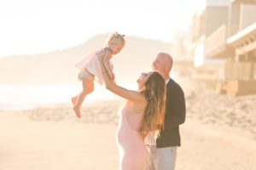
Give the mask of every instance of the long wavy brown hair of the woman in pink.
<svg viewBox="0 0 256 170">
<path fill-rule="evenodd" d="M 145 90 L 142 94 L 147 99 L 144 109 L 143 121 L 139 133 L 143 139 L 150 131 L 159 135 L 164 127 L 166 113 L 166 82 L 160 73 L 154 71 L 144 83 Z"/>
</svg>

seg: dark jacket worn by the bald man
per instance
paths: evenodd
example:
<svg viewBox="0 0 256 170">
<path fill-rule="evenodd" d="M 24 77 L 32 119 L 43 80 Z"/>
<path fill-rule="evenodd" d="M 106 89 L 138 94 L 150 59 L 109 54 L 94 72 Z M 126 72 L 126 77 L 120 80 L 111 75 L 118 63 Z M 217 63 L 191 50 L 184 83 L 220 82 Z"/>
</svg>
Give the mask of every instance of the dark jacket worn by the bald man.
<svg viewBox="0 0 256 170">
<path fill-rule="evenodd" d="M 180 146 L 179 125 L 185 122 L 186 105 L 183 89 L 172 78 L 166 84 L 165 126 L 156 139 L 157 148 Z"/>
</svg>

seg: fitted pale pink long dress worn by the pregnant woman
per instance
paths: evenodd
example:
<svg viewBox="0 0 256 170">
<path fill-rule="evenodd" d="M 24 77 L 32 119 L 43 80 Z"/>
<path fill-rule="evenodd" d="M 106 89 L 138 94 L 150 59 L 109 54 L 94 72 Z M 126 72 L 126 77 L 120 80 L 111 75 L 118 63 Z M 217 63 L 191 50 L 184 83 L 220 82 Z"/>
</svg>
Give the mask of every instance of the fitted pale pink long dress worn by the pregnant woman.
<svg viewBox="0 0 256 170">
<path fill-rule="evenodd" d="M 119 148 L 119 169 L 143 170 L 149 157 L 143 139 L 137 132 L 143 113 L 134 113 L 125 105 L 119 119 L 117 143 Z"/>
</svg>

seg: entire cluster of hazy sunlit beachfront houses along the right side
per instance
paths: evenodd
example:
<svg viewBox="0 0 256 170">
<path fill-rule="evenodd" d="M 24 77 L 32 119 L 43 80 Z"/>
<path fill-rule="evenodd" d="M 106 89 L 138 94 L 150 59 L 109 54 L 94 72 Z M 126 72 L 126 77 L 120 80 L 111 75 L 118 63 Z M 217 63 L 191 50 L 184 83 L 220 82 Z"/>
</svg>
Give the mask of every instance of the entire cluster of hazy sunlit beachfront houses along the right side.
<svg viewBox="0 0 256 170">
<path fill-rule="evenodd" d="M 192 26 L 197 33 L 192 34 L 192 42 L 196 44 L 192 46 L 195 47 L 195 64 L 200 64 L 195 65 L 198 66 L 195 80 L 212 80 L 215 82 L 212 85 L 218 92 L 225 94 L 254 94 L 256 1 L 214 2 L 215 4 L 207 1 L 206 7 L 199 15 L 201 24 L 194 20 Z"/>
</svg>

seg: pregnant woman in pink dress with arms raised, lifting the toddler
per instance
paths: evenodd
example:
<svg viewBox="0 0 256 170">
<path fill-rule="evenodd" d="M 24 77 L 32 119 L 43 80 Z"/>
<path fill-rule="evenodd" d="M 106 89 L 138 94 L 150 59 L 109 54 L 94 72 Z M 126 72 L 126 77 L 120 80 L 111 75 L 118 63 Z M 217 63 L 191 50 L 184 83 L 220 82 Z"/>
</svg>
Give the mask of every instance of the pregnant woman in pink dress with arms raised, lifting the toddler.
<svg viewBox="0 0 256 170">
<path fill-rule="evenodd" d="M 149 133 L 157 138 L 163 127 L 166 82 L 158 72 L 152 71 L 142 73 L 137 79 L 137 91 L 119 87 L 110 79 L 103 65 L 104 52 L 98 53 L 106 88 L 127 99 L 117 129 L 119 169 L 143 170 L 149 156 L 144 139 Z"/>
</svg>

